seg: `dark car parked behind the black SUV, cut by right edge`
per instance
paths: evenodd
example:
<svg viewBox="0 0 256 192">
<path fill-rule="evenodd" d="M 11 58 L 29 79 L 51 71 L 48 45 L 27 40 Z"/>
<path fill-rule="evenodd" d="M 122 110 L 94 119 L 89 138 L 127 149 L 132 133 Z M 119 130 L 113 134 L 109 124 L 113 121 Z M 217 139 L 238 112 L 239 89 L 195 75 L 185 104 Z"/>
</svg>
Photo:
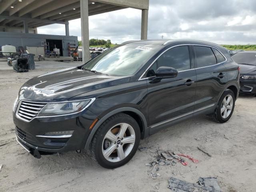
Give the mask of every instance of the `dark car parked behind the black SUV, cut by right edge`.
<svg viewBox="0 0 256 192">
<path fill-rule="evenodd" d="M 232 59 L 240 66 L 240 93 L 256 94 L 256 51 L 238 52 Z"/>
</svg>

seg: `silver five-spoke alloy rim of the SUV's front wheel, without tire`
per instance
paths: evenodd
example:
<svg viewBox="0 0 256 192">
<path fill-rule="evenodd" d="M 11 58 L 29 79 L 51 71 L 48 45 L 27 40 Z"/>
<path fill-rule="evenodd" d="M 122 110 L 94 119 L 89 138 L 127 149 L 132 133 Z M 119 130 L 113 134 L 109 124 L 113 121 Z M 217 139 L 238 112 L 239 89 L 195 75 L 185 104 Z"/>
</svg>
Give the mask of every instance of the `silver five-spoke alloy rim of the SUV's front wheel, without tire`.
<svg viewBox="0 0 256 192">
<path fill-rule="evenodd" d="M 130 154 L 135 140 L 135 131 L 130 124 L 116 124 L 104 137 L 102 154 L 110 162 L 119 162 Z"/>
</svg>

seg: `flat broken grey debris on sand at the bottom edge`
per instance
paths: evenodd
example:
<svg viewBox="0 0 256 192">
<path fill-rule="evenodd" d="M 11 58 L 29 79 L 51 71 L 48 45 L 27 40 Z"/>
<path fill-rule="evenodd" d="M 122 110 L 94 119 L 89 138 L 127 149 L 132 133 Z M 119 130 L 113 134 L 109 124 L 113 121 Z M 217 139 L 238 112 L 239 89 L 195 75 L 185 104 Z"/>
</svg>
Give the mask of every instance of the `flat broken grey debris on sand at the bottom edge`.
<svg viewBox="0 0 256 192">
<path fill-rule="evenodd" d="M 198 184 L 182 181 L 174 177 L 171 177 L 168 181 L 168 188 L 175 192 L 221 192 L 218 181 L 214 177 L 200 177 Z"/>
</svg>

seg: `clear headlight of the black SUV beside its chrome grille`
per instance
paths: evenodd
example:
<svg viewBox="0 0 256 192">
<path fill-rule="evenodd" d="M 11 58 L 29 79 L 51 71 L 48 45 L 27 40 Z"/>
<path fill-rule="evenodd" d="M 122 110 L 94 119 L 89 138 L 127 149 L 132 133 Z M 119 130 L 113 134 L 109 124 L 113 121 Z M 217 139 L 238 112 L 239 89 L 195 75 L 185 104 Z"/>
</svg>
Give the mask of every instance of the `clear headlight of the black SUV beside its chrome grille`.
<svg viewBox="0 0 256 192">
<path fill-rule="evenodd" d="M 38 116 L 56 116 L 78 113 L 87 108 L 94 100 L 95 98 L 74 102 L 48 103 L 38 113 Z"/>
</svg>

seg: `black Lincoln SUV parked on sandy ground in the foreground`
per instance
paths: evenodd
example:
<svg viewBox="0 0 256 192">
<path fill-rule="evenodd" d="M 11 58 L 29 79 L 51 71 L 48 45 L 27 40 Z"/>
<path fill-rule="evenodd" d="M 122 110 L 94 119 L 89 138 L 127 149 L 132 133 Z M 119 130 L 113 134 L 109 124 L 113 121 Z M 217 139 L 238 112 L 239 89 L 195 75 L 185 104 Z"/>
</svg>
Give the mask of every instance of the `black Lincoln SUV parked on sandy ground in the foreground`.
<svg viewBox="0 0 256 192">
<path fill-rule="evenodd" d="M 28 80 L 13 107 L 16 139 L 37 158 L 87 149 L 116 168 L 140 139 L 186 118 L 228 121 L 238 90 L 238 64 L 217 44 L 124 42 L 82 66 Z"/>
</svg>

